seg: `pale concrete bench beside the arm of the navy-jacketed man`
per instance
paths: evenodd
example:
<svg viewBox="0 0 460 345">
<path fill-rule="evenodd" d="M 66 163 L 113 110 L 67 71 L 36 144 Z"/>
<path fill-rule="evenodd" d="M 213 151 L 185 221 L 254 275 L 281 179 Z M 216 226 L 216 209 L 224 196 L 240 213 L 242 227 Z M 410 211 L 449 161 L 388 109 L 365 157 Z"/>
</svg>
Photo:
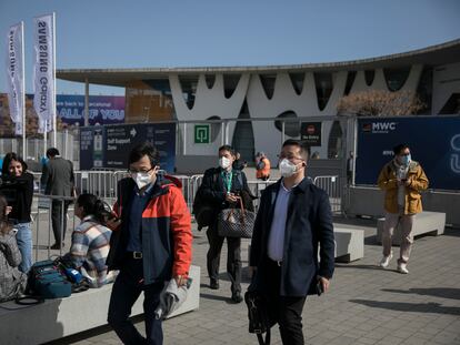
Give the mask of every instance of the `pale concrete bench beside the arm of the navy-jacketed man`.
<svg viewBox="0 0 460 345">
<path fill-rule="evenodd" d="M 364 257 L 364 231 L 334 225 L 336 261 L 351 262 Z"/>
</svg>

